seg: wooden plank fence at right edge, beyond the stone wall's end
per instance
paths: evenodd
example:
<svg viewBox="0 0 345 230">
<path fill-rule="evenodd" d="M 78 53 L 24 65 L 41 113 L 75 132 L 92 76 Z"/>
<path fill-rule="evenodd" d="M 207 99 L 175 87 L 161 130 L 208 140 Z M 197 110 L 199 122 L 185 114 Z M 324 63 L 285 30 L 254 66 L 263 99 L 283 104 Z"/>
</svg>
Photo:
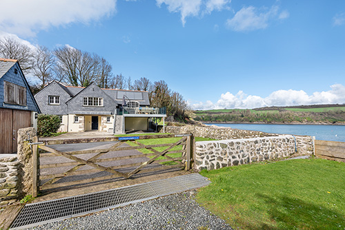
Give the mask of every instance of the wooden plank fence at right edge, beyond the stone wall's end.
<svg viewBox="0 0 345 230">
<path fill-rule="evenodd" d="M 345 143 L 328 140 L 315 140 L 315 156 L 328 160 L 345 162 Z"/>
</svg>

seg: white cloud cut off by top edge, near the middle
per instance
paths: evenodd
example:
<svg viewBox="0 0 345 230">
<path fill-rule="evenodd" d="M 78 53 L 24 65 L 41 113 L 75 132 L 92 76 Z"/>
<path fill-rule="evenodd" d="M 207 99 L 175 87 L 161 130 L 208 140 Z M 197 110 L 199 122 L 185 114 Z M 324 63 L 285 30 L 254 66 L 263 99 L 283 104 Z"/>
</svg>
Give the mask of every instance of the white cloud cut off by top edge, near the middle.
<svg viewBox="0 0 345 230">
<path fill-rule="evenodd" d="M 166 4 L 169 12 L 179 12 L 181 14 L 182 25 L 186 24 L 186 17 L 197 17 L 199 14 L 210 14 L 213 10 L 223 10 L 227 8 L 230 0 L 156 0 L 157 6 Z"/>
</svg>

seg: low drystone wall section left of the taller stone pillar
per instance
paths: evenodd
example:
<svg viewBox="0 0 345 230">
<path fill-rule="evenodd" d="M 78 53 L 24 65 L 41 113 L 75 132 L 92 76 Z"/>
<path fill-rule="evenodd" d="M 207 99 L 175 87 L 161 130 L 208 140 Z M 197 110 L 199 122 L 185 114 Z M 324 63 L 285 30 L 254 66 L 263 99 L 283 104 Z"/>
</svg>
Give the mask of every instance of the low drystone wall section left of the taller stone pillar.
<svg viewBox="0 0 345 230">
<path fill-rule="evenodd" d="M 0 158 L 0 207 L 16 201 L 19 196 L 19 167 L 15 156 Z"/>
</svg>

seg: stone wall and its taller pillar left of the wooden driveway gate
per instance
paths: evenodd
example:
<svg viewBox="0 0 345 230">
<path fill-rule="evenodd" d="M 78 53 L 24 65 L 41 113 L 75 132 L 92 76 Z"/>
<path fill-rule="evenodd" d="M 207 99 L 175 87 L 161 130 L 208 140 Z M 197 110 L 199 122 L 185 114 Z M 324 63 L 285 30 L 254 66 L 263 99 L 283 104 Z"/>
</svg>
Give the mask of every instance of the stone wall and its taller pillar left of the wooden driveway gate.
<svg viewBox="0 0 345 230">
<path fill-rule="evenodd" d="M 18 130 L 17 155 L 0 158 L 0 207 L 9 205 L 32 189 L 32 151 L 28 140 L 37 136 L 36 129 Z"/>
</svg>

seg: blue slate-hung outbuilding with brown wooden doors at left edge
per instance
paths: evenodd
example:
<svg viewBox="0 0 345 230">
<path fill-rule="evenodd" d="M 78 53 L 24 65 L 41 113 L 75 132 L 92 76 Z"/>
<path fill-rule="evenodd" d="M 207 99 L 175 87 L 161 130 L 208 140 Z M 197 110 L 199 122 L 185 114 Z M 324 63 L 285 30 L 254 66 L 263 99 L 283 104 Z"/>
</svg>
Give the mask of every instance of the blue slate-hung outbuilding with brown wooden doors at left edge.
<svg viewBox="0 0 345 230">
<path fill-rule="evenodd" d="M 37 128 L 39 106 L 17 60 L 0 59 L 0 154 L 17 151 L 17 131 Z"/>
</svg>

